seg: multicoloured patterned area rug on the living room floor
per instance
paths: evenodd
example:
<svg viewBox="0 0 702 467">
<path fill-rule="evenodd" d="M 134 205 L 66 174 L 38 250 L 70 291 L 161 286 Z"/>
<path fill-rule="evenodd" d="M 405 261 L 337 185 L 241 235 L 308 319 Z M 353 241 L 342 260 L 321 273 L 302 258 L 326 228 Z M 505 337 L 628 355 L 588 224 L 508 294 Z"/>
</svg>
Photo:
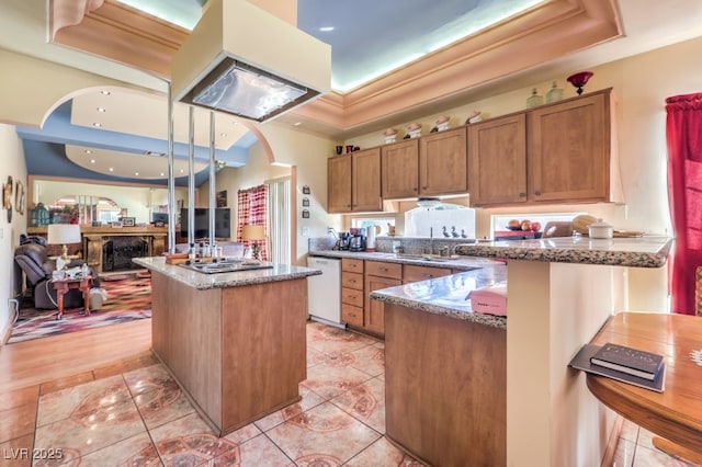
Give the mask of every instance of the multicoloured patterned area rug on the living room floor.
<svg viewBox="0 0 702 467">
<path fill-rule="evenodd" d="M 64 317 L 56 319 L 56 310 L 25 308 L 14 323 L 8 344 L 46 338 L 83 329 L 118 324 L 151 317 L 151 280 L 144 276 L 125 276 L 100 284 L 107 294 L 99 310 L 89 316 L 82 308 L 67 308 Z"/>
</svg>

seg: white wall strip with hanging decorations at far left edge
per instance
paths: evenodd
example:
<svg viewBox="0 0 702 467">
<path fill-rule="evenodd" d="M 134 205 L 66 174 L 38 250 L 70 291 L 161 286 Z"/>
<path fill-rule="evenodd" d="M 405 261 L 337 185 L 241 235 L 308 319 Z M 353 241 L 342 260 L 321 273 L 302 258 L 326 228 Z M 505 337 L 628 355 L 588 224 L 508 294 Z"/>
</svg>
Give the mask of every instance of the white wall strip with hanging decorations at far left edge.
<svg viewBox="0 0 702 467">
<path fill-rule="evenodd" d="M 12 181 L 21 181 L 24 184 L 26 196 L 26 164 L 24 163 L 24 151 L 22 141 L 15 133 L 14 126 L 0 124 L 0 152 L 2 153 L 2 167 L 0 168 L 0 180 L 8 182 L 8 176 Z M 13 183 L 14 184 L 14 183 Z M 14 189 L 12 195 L 12 220 L 8 221 L 8 212 L 0 209 L 0 342 L 5 332 L 10 330 L 11 319 L 10 299 L 14 298 L 20 291 L 14 289 L 14 248 L 20 244 L 20 235 L 26 232 L 26 216 L 29 202 L 25 198 L 24 214 L 18 213 L 14 203 Z M 12 308 L 14 309 L 14 308 Z M 13 315 L 13 314 L 12 314 Z"/>
</svg>

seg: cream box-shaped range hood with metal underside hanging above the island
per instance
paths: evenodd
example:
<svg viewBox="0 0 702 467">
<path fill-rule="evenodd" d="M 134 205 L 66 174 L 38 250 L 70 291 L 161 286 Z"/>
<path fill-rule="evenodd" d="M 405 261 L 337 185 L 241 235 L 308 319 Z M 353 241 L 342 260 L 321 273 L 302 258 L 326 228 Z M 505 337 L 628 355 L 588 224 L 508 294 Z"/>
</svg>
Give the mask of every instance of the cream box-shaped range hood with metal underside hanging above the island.
<svg viewBox="0 0 702 467">
<path fill-rule="evenodd" d="M 330 83 L 328 44 L 246 0 L 210 0 L 171 62 L 173 100 L 258 122 Z"/>
</svg>

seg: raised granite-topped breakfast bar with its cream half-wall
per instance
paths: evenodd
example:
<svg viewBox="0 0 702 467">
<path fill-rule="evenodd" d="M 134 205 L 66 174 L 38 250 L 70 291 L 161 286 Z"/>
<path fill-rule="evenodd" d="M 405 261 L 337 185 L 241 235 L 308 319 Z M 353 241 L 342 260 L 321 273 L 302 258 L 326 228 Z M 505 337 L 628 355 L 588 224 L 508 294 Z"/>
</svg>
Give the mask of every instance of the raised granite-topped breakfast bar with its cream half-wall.
<svg viewBox="0 0 702 467">
<path fill-rule="evenodd" d="M 456 247 L 507 260 L 507 465 L 601 464 L 616 417 L 568 363 L 627 309 L 629 269 L 664 266 L 672 241 L 574 236 Z"/>
</svg>

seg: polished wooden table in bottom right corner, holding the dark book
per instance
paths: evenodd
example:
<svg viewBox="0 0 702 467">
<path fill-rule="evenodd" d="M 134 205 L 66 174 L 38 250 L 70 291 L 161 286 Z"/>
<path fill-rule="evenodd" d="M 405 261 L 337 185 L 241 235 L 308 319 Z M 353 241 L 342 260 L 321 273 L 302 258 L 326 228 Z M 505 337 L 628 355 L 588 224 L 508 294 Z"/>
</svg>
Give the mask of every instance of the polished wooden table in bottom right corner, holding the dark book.
<svg viewBox="0 0 702 467">
<path fill-rule="evenodd" d="M 592 340 L 605 342 L 664 355 L 665 391 L 588 374 L 590 391 L 610 409 L 656 434 L 657 448 L 702 464 L 702 366 L 690 356 L 693 351 L 702 353 L 702 318 L 622 312 Z"/>
</svg>

